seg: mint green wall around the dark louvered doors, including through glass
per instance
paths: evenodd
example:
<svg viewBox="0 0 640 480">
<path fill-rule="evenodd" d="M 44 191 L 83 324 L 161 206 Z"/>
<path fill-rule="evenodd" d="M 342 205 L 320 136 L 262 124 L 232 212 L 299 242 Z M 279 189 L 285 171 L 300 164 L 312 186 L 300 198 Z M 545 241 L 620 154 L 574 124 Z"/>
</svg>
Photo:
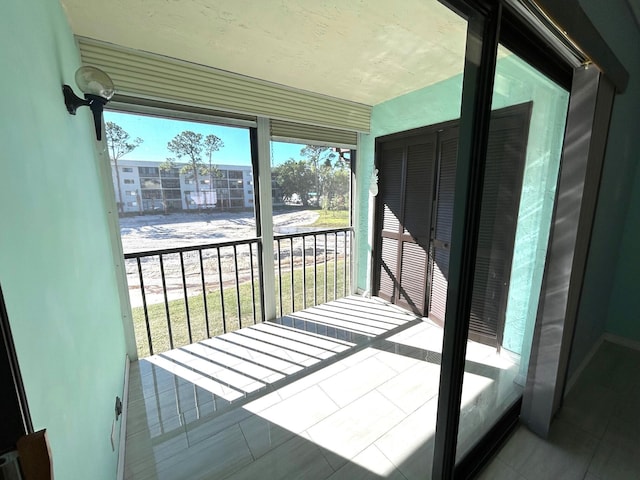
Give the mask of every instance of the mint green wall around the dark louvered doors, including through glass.
<svg viewBox="0 0 640 480">
<path fill-rule="evenodd" d="M 373 107 L 371 134 L 360 138 L 358 163 L 358 288 L 369 290 L 373 200 L 368 184 L 375 137 L 452 120 L 460 116 L 462 77 Z M 492 108 L 533 101 L 531 133 L 520 202 L 516 251 L 507 307 L 504 346 L 521 353 L 530 346 L 544 271 L 568 93 L 515 56 L 498 61 Z M 369 222 L 369 223 L 367 223 Z M 524 350 L 528 357 L 528 349 Z M 526 364 L 525 364 L 526 366 Z"/>
</svg>

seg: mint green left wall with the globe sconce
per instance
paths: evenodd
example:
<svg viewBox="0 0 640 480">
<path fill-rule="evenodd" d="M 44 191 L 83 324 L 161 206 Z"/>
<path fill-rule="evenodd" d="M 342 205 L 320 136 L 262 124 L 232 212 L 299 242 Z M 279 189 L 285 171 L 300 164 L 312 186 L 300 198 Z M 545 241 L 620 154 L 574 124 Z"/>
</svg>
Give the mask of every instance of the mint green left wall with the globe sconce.
<svg viewBox="0 0 640 480">
<path fill-rule="evenodd" d="M 56 478 L 113 479 L 124 333 L 90 112 L 63 103 L 79 54 L 58 1 L 2 2 L 0 64 L 0 282 L 34 426 Z"/>
</svg>

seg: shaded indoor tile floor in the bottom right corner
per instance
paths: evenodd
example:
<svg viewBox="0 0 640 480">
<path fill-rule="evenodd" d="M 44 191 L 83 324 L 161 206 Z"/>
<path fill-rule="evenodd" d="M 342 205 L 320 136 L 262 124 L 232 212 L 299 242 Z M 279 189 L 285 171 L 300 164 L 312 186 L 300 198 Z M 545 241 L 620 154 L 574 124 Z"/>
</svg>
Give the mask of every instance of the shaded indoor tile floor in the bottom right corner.
<svg viewBox="0 0 640 480">
<path fill-rule="evenodd" d="M 483 480 L 640 479 L 640 351 L 604 342 L 543 440 L 518 427 Z"/>
</svg>

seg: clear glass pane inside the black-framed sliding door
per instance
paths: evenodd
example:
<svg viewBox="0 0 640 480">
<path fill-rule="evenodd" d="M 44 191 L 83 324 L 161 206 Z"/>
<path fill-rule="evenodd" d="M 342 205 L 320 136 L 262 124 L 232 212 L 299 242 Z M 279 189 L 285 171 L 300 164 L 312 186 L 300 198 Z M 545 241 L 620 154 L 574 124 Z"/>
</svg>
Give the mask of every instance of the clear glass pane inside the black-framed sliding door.
<svg viewBox="0 0 640 480">
<path fill-rule="evenodd" d="M 522 395 L 568 101 L 569 92 L 499 46 L 458 461 Z"/>
</svg>

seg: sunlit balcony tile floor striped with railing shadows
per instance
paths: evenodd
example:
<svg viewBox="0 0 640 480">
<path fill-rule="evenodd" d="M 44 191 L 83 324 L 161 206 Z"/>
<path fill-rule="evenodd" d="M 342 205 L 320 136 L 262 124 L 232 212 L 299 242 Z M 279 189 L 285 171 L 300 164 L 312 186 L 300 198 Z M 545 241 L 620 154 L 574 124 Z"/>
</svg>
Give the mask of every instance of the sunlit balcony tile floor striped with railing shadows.
<svg viewBox="0 0 640 480">
<path fill-rule="evenodd" d="M 428 478 L 441 344 L 354 296 L 135 362 L 125 477 Z M 468 366 L 462 443 L 519 393 L 495 349 L 470 343 Z"/>
</svg>

